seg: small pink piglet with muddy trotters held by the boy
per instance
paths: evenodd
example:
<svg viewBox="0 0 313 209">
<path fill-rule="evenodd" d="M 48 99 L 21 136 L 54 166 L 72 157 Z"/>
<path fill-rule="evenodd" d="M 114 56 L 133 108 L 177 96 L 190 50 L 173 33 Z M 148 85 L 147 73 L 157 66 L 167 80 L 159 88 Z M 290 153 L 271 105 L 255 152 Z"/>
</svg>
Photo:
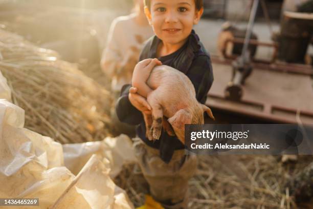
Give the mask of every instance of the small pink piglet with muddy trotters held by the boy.
<svg viewBox="0 0 313 209">
<path fill-rule="evenodd" d="M 152 115 L 144 114 L 149 140 L 159 139 L 162 127 L 172 135 L 172 127 L 177 138 L 185 143 L 185 124 L 204 124 L 204 112 L 214 119 L 211 109 L 197 101 L 192 82 L 184 73 L 165 65 L 153 69 L 149 65 L 145 68 L 138 65 L 133 72 L 132 86 L 147 98 L 152 109 Z"/>
</svg>

